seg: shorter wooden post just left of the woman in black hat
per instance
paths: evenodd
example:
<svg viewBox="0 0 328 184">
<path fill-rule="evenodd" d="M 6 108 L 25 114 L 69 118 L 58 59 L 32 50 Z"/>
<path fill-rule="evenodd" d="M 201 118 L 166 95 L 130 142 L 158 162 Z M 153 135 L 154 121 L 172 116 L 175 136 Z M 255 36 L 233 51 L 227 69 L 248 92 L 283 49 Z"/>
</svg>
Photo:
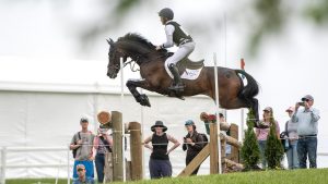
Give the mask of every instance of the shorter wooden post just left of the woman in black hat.
<svg viewBox="0 0 328 184">
<path fill-rule="evenodd" d="M 130 155 L 131 155 L 131 180 L 142 180 L 142 144 L 141 124 L 138 122 L 129 123 L 130 130 Z"/>
</svg>

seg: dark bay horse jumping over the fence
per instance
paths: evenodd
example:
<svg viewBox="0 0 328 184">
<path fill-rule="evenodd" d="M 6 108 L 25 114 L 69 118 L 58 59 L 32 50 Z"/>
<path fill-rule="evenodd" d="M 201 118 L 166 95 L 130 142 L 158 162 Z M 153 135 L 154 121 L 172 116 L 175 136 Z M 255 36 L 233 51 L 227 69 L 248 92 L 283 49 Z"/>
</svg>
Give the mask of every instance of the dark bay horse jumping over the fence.
<svg viewBox="0 0 328 184">
<path fill-rule="evenodd" d="M 168 89 L 172 78 L 164 69 L 164 61 L 168 57 L 167 50 L 155 50 L 155 46 L 137 34 L 127 34 L 116 42 L 107 40 L 110 48 L 108 52 L 107 75 L 115 78 L 120 70 L 120 58 L 124 63 L 130 58 L 140 68 L 142 79 L 129 79 L 127 87 L 134 99 L 142 106 L 150 107 L 148 97 L 140 94 L 137 87 L 155 91 L 169 97 L 206 95 L 215 100 L 214 68 L 204 66 L 197 79 L 183 79 L 185 90 L 176 94 Z M 247 79 L 244 86 L 242 74 Z M 254 98 L 259 89 L 257 82 L 243 70 L 218 68 L 219 103 L 224 109 L 250 108 L 258 120 L 258 100 Z"/>
</svg>

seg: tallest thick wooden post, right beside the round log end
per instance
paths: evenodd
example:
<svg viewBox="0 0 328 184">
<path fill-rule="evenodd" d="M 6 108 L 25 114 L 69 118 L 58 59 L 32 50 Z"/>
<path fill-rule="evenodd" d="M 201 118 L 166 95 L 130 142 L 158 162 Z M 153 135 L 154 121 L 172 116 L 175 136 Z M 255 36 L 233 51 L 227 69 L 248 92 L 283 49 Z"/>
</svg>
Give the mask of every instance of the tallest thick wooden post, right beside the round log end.
<svg viewBox="0 0 328 184">
<path fill-rule="evenodd" d="M 113 122 L 113 180 L 124 181 L 122 173 L 122 116 L 118 111 L 112 111 Z"/>
</svg>

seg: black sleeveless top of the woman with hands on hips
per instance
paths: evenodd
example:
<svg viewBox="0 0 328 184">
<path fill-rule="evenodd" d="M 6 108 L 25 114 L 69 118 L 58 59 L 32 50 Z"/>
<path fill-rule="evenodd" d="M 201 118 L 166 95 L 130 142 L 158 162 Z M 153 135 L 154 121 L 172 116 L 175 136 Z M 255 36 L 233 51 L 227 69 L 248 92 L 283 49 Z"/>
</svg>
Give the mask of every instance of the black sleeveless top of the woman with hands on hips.
<svg viewBox="0 0 328 184">
<path fill-rule="evenodd" d="M 167 145 L 168 145 L 166 133 L 164 133 L 162 136 L 153 134 L 152 145 L 153 145 L 153 152 L 151 155 L 152 159 L 168 160 L 168 156 L 166 155 Z"/>
</svg>

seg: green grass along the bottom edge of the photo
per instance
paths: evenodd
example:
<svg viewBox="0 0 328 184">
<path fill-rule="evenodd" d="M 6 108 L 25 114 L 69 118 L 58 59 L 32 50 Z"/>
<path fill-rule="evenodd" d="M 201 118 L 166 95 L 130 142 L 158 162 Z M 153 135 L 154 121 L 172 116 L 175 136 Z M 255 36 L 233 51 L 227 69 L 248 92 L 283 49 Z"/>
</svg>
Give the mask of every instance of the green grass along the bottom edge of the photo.
<svg viewBox="0 0 328 184">
<path fill-rule="evenodd" d="M 54 184 L 55 179 L 7 180 L 7 184 Z M 128 184 L 328 184 L 328 169 L 239 172 L 127 182 Z M 67 184 L 59 180 L 58 184 Z M 122 182 L 115 182 L 122 184 Z"/>
</svg>

